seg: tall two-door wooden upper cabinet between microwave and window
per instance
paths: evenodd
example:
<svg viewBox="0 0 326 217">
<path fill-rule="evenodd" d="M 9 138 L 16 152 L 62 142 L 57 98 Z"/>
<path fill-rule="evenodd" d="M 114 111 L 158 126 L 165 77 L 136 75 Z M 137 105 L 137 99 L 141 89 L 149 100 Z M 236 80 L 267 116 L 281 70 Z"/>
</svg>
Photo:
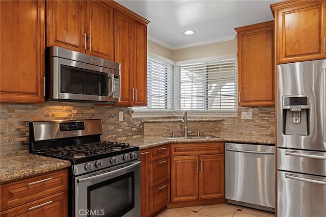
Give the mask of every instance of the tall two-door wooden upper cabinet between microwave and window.
<svg viewBox="0 0 326 217">
<path fill-rule="evenodd" d="M 120 102 L 147 105 L 147 24 L 127 11 L 115 9 L 115 61 L 121 63 Z"/>
</svg>

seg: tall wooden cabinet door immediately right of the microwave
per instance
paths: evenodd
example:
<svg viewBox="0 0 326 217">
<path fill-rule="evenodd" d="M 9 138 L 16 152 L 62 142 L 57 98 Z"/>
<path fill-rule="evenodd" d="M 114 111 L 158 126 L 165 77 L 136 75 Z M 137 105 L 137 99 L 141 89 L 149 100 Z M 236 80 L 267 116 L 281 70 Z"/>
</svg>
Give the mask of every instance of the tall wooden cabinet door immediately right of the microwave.
<svg viewBox="0 0 326 217">
<path fill-rule="evenodd" d="M 116 10 L 114 20 L 115 34 L 115 61 L 120 63 L 121 67 L 121 91 L 120 102 L 116 105 L 132 104 L 132 19 L 124 13 Z"/>
</svg>

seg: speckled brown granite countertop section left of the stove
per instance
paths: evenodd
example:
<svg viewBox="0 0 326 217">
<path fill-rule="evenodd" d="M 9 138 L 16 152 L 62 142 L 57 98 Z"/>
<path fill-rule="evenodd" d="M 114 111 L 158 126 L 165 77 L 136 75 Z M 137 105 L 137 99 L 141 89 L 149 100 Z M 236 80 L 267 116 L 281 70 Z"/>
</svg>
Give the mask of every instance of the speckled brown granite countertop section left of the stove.
<svg viewBox="0 0 326 217">
<path fill-rule="evenodd" d="M 68 160 L 31 153 L 0 156 L 0 182 L 70 167 Z"/>
</svg>

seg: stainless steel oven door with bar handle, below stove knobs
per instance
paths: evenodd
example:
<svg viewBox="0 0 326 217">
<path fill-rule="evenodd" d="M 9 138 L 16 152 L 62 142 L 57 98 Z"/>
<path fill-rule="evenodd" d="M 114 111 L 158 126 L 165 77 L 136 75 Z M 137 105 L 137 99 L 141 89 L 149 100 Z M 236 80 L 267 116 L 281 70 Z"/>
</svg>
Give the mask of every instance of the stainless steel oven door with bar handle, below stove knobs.
<svg viewBox="0 0 326 217">
<path fill-rule="evenodd" d="M 73 216 L 140 216 L 140 165 L 133 161 L 74 177 Z"/>
</svg>

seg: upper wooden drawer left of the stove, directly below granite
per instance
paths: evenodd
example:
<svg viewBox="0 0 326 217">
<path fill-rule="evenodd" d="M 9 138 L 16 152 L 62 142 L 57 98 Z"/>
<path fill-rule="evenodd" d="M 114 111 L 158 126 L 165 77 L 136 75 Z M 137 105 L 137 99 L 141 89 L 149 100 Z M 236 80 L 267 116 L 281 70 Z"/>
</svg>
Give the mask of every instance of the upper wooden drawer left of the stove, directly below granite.
<svg viewBox="0 0 326 217">
<path fill-rule="evenodd" d="M 68 169 L 1 185 L 1 209 L 12 208 L 68 189 Z"/>
</svg>

